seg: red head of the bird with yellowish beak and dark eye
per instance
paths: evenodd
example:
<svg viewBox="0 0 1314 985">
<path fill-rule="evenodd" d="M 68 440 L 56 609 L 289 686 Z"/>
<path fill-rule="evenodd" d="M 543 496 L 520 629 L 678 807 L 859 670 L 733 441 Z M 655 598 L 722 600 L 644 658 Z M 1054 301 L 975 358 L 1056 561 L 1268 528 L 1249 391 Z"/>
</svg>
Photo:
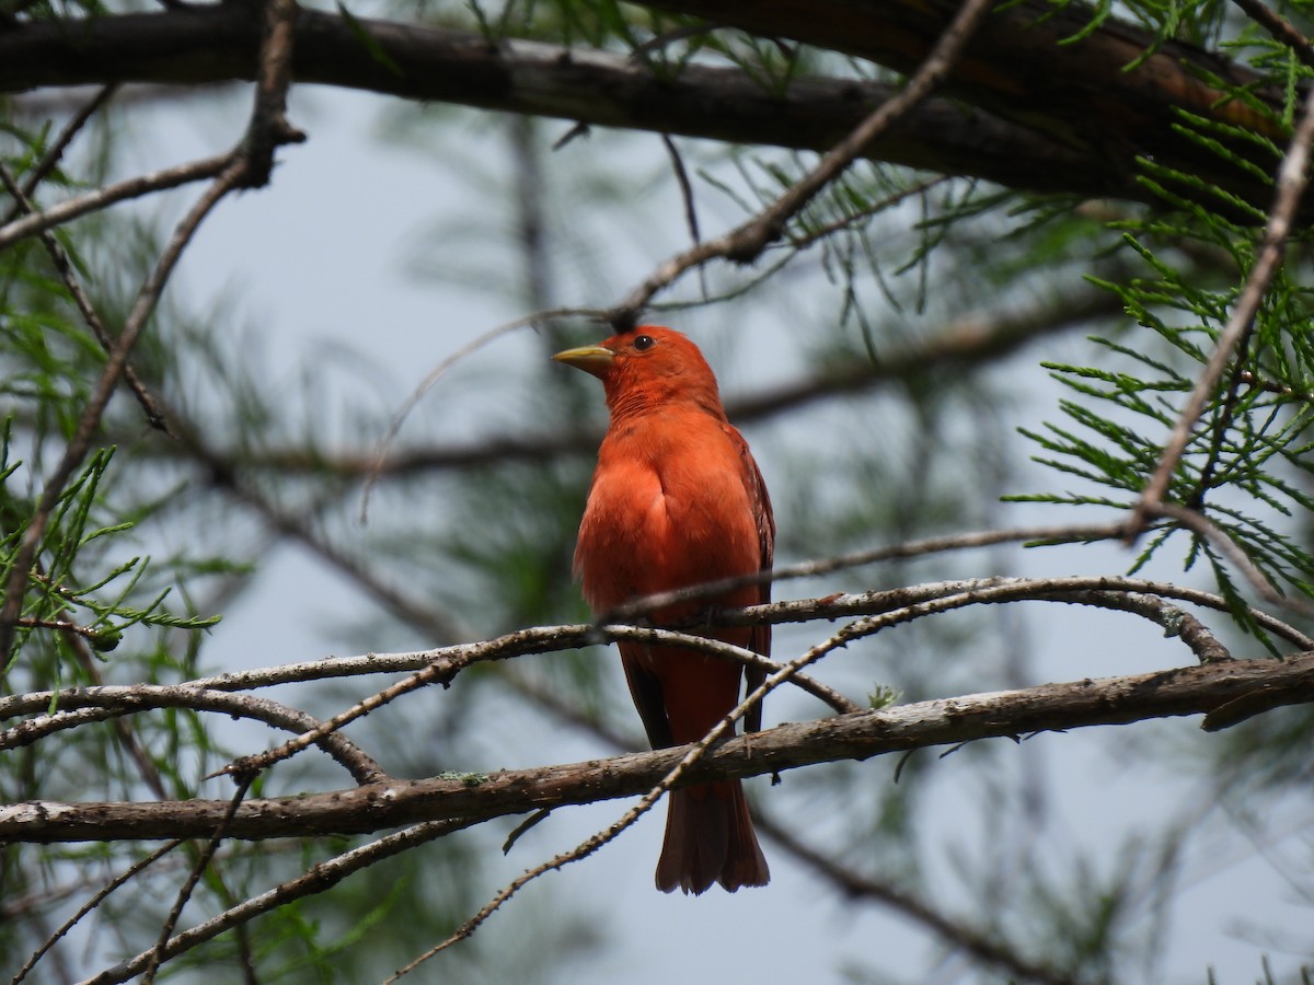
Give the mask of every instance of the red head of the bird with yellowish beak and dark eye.
<svg viewBox="0 0 1314 985">
<path fill-rule="evenodd" d="M 643 324 L 552 359 L 602 380 L 612 415 L 692 402 L 724 416 L 712 368 L 689 336 L 674 328 Z"/>
</svg>

